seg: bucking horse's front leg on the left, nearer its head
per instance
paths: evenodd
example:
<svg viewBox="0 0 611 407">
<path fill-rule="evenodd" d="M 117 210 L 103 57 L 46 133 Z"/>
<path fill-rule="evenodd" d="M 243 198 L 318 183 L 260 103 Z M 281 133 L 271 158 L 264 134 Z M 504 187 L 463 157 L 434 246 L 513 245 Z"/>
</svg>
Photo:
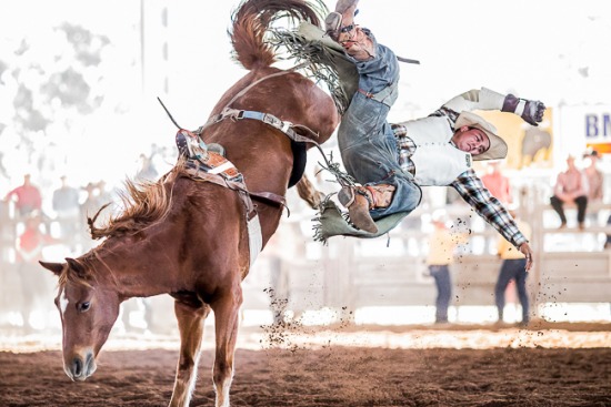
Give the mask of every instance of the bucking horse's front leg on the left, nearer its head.
<svg viewBox="0 0 611 407">
<path fill-rule="evenodd" d="M 210 313 L 210 306 L 203 303 L 186 304 L 177 299 L 174 313 L 180 330 L 180 357 L 170 407 L 187 407 L 196 388 L 203 322 Z"/>
</svg>

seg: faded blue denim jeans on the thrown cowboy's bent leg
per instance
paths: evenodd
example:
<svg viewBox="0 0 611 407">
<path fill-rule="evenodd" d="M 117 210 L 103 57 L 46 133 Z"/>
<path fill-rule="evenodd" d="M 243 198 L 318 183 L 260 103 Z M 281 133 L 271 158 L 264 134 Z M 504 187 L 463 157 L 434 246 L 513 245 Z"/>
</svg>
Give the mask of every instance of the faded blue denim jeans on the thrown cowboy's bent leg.
<svg viewBox="0 0 611 407">
<path fill-rule="evenodd" d="M 422 199 L 413 175 L 401 170 L 394 134 L 387 122 L 390 108 L 362 93 L 352 96 L 338 130 L 338 144 L 345 170 L 359 183 L 394 186 L 388 207 L 371 211 L 377 220 L 397 212 L 411 212 Z"/>
</svg>

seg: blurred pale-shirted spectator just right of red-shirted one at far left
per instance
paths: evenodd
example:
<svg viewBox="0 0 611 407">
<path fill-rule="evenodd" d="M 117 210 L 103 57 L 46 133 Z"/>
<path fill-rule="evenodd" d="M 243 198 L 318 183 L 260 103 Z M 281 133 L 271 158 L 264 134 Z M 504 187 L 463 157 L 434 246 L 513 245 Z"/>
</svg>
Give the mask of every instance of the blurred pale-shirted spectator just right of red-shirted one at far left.
<svg viewBox="0 0 611 407">
<path fill-rule="evenodd" d="M 53 211 L 60 227 L 60 238 L 74 238 L 82 220 L 79 216 L 79 191 L 68 185 L 67 176 L 61 176 L 61 186 L 53 191 Z"/>
</svg>

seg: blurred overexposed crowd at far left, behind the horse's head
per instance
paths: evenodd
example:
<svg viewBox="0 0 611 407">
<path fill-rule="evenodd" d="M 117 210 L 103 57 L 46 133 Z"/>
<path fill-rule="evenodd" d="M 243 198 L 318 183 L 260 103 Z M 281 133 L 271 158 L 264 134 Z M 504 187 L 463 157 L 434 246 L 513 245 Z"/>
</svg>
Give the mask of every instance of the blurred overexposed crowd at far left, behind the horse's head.
<svg viewBox="0 0 611 407">
<path fill-rule="evenodd" d="M 173 153 L 154 145 L 151 151 L 140 154 L 130 179 L 156 181 L 160 175 L 156 155 L 169 160 L 161 155 Z M 79 256 L 94 247 L 99 242 L 89 234 L 88 218 L 101 210 L 96 223 L 104 223 L 120 211 L 122 194 L 122 185 L 109 187 L 106 180 L 79 185 L 62 174 L 52 189 L 33 180 L 32 173 L 23 174 L 0 201 L 0 327 L 19 326 L 26 332 L 46 327 L 44 312 L 56 293 L 56 279 L 41 273 L 38 262 Z"/>
</svg>

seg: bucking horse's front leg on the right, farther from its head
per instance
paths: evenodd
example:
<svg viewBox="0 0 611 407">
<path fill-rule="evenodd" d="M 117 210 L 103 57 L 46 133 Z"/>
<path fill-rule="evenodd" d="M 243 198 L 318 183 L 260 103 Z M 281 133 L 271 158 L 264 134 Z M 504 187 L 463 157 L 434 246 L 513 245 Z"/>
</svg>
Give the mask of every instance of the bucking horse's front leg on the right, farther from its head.
<svg viewBox="0 0 611 407">
<path fill-rule="evenodd" d="M 212 304 L 217 329 L 217 354 L 212 377 L 217 391 L 217 407 L 229 407 L 229 388 L 233 379 L 233 353 L 238 339 L 239 312 L 242 287 L 238 283 Z"/>
</svg>

